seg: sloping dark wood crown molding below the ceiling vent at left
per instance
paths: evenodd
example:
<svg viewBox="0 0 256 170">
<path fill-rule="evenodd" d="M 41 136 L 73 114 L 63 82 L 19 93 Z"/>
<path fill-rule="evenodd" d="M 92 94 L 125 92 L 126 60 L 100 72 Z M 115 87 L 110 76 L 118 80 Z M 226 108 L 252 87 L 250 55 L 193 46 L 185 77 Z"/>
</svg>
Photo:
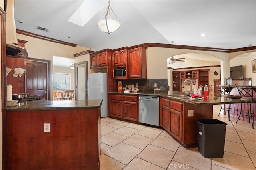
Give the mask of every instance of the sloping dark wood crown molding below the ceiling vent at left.
<svg viewBox="0 0 256 170">
<path fill-rule="evenodd" d="M 46 36 L 41 36 L 41 35 L 38 35 L 38 34 L 34 34 L 34 33 L 31 33 L 31 32 L 26 32 L 26 31 L 19 30 L 19 29 L 16 29 L 16 31 L 17 31 L 17 34 L 23 34 L 25 36 L 34 37 L 34 38 L 38 38 L 38 39 L 49 41 L 49 42 L 60 43 L 60 44 L 68 45 L 68 46 L 71 46 L 71 47 L 76 47 L 77 46 L 77 44 L 74 44 L 74 43 L 68 43 L 68 42 L 56 40 L 56 39 L 53 39 L 53 38 L 49 38 L 49 37 L 46 37 Z"/>
</svg>

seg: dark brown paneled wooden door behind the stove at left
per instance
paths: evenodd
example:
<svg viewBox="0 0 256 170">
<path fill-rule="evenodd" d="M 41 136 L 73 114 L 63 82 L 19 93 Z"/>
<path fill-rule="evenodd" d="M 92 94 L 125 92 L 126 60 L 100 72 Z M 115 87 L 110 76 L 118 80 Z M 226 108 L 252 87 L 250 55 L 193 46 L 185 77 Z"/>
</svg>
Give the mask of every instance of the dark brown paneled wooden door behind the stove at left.
<svg viewBox="0 0 256 170">
<path fill-rule="evenodd" d="M 48 63 L 50 61 L 29 60 L 25 59 L 25 93 L 28 95 L 35 95 L 44 99 L 50 99 L 47 92 L 50 94 L 48 88 Z"/>
</svg>

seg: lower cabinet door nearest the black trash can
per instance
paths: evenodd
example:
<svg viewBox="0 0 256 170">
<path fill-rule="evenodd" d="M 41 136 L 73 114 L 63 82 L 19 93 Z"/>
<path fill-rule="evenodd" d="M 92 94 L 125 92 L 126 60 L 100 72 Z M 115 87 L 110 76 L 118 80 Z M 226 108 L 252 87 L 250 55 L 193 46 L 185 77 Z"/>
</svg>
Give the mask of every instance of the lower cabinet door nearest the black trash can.
<svg viewBox="0 0 256 170">
<path fill-rule="evenodd" d="M 182 112 L 170 109 L 170 134 L 178 139 L 182 140 Z"/>
</svg>

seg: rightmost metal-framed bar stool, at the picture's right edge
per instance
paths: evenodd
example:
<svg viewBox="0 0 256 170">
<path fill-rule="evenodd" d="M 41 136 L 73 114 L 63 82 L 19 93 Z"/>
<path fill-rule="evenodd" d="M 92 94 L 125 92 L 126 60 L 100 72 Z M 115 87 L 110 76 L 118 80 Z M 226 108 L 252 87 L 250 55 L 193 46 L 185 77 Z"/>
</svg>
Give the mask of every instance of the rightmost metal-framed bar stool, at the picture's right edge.
<svg viewBox="0 0 256 170">
<path fill-rule="evenodd" d="M 253 95 L 252 85 L 249 87 L 236 86 L 236 88 L 238 89 L 240 100 L 244 100 L 247 102 L 247 109 L 248 109 L 248 112 L 242 111 L 242 104 L 241 104 L 240 115 L 236 123 L 238 122 L 238 120 L 240 120 L 241 115 L 245 115 L 249 117 L 249 123 L 250 123 L 250 119 L 252 120 L 252 128 L 254 129 L 254 117 L 256 117 L 254 113 L 254 105 L 256 104 L 256 97 L 254 97 Z"/>
</svg>

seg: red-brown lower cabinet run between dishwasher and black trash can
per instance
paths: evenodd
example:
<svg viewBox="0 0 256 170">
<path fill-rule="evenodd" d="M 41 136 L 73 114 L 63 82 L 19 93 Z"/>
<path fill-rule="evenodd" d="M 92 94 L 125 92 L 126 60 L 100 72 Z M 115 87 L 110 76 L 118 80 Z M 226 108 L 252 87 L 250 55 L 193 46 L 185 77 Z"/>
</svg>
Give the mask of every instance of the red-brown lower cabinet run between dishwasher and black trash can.
<svg viewBox="0 0 256 170">
<path fill-rule="evenodd" d="M 193 110 L 192 116 L 188 116 L 188 110 Z M 160 98 L 160 127 L 186 148 L 197 146 L 196 119 L 212 119 L 212 105 Z"/>
</svg>

